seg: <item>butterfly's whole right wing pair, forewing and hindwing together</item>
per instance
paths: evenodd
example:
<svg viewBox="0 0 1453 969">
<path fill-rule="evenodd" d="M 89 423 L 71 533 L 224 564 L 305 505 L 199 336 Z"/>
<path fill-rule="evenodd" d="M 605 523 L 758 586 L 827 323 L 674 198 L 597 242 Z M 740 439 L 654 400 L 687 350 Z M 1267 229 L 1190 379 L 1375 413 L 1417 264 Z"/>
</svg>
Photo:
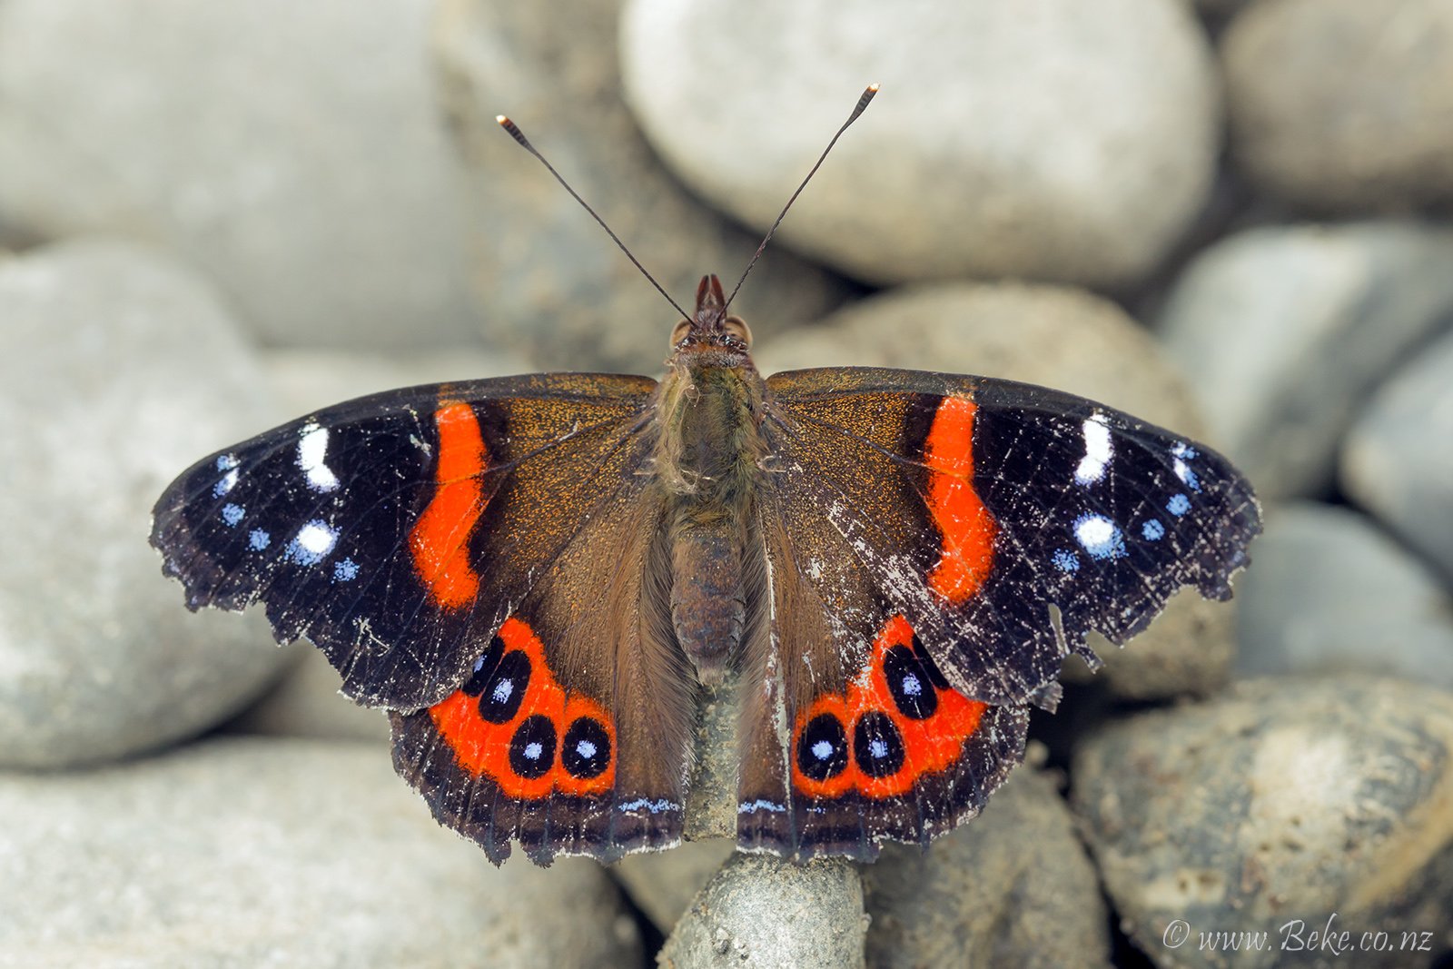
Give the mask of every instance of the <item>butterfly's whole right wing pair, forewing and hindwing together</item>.
<svg viewBox="0 0 1453 969">
<path fill-rule="evenodd" d="M 1064 658 L 1097 662 L 1091 629 L 1125 642 L 1186 584 L 1225 599 L 1260 530 L 1223 458 L 1068 394 L 878 369 L 767 386 L 745 847 L 872 857 L 971 816 Z"/>
</svg>

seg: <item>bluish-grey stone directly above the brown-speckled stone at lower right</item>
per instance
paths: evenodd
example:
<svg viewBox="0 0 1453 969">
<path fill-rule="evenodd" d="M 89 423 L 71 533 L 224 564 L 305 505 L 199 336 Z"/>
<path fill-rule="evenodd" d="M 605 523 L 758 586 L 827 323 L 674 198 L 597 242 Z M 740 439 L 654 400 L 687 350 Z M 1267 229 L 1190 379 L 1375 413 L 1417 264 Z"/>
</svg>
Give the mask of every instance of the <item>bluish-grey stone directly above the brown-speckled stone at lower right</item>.
<svg viewBox="0 0 1453 969">
<path fill-rule="evenodd" d="M 1242 676 L 1372 673 L 1453 690 L 1453 597 L 1350 508 L 1273 508 L 1237 596 Z"/>
</svg>

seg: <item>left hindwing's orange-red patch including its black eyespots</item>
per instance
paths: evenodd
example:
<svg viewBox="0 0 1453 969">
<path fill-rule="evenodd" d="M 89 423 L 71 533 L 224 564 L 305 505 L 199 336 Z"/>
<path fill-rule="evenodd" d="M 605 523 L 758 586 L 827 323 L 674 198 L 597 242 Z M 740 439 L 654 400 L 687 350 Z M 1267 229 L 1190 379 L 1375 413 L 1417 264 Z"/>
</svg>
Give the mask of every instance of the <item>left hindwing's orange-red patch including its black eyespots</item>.
<svg viewBox="0 0 1453 969">
<path fill-rule="evenodd" d="M 596 700 L 568 693 L 527 623 L 510 617 L 465 686 L 429 709 L 461 767 L 523 800 L 600 795 L 616 783 L 616 729 Z"/>
</svg>

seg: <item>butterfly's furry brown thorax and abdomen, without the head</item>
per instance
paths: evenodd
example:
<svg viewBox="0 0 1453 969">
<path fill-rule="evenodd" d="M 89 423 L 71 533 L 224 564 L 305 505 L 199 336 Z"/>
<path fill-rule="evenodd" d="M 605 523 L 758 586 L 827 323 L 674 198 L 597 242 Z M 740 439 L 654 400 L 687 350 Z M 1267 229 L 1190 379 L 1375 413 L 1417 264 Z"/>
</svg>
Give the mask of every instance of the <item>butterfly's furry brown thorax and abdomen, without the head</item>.
<svg viewBox="0 0 1453 969">
<path fill-rule="evenodd" d="M 667 492 L 671 625 L 697 677 L 718 683 L 747 625 L 744 556 L 766 447 L 763 381 L 745 354 L 693 354 L 661 384 L 657 474 Z"/>
</svg>

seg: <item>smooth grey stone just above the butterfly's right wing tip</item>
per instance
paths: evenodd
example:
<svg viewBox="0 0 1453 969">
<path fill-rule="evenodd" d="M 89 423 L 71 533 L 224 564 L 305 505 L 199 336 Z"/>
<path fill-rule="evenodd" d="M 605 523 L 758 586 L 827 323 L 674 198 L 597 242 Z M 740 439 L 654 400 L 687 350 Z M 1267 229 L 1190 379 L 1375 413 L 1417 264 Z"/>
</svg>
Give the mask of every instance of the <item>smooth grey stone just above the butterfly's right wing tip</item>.
<svg viewBox="0 0 1453 969">
<path fill-rule="evenodd" d="M 1202 251 L 1159 320 L 1170 356 L 1263 500 L 1329 487 L 1383 375 L 1453 312 L 1453 231 L 1270 227 Z"/>
</svg>

